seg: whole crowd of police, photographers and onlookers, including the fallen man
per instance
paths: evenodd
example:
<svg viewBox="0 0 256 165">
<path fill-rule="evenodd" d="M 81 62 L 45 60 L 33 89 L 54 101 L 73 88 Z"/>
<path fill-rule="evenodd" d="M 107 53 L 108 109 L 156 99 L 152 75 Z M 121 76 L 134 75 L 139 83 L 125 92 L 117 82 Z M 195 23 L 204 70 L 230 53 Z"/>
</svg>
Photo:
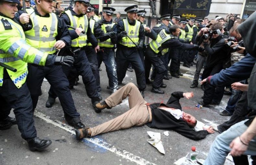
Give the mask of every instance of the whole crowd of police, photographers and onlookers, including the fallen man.
<svg viewBox="0 0 256 165">
<path fill-rule="evenodd" d="M 23 0 L 0 0 L 0 130 L 17 124 L 31 151 L 51 145 L 51 140 L 37 137 L 33 120 L 46 78 L 51 87 L 45 106 L 51 108 L 59 98 L 64 118 L 76 129 L 77 139 L 144 124 L 171 129 L 194 140 L 204 139 L 215 130 L 221 134 L 204 164 L 223 164 L 228 152 L 235 164 L 245 162 L 246 155 L 254 160 L 256 13 L 246 21 L 233 14 L 212 20 L 167 14 L 156 18 L 157 25 L 150 28 L 144 23 L 145 10 L 138 10 L 137 5 L 125 8 L 127 17 L 121 18 L 117 12 L 113 20 L 115 8 L 103 7 L 99 13 L 90 0 L 75 0 L 66 9 L 56 8 L 52 0 L 35 0 L 35 7 L 32 1 L 24 1 L 26 7 Z M 145 36 L 151 38 L 149 43 Z M 111 95 L 100 102 L 102 62 Z M 152 85 L 152 93 L 164 94 L 162 88 L 167 84 L 163 79 L 183 76 L 181 62 L 184 67 L 196 65 L 190 88 L 198 87 L 204 68 L 200 105 L 219 105 L 225 88 L 231 91 L 227 107 L 220 113 L 231 116 L 229 121 L 195 131 L 196 118 L 183 112 L 179 102 L 183 97 L 192 98 L 192 92 L 173 92 L 166 104 L 144 100 L 146 84 Z M 119 89 L 129 65 L 135 71 L 137 86 L 128 83 Z M 127 97 L 130 110 L 86 128 L 70 92 L 79 76 L 96 113 L 115 107 Z M 12 108 L 15 118 L 9 117 Z"/>
</svg>

